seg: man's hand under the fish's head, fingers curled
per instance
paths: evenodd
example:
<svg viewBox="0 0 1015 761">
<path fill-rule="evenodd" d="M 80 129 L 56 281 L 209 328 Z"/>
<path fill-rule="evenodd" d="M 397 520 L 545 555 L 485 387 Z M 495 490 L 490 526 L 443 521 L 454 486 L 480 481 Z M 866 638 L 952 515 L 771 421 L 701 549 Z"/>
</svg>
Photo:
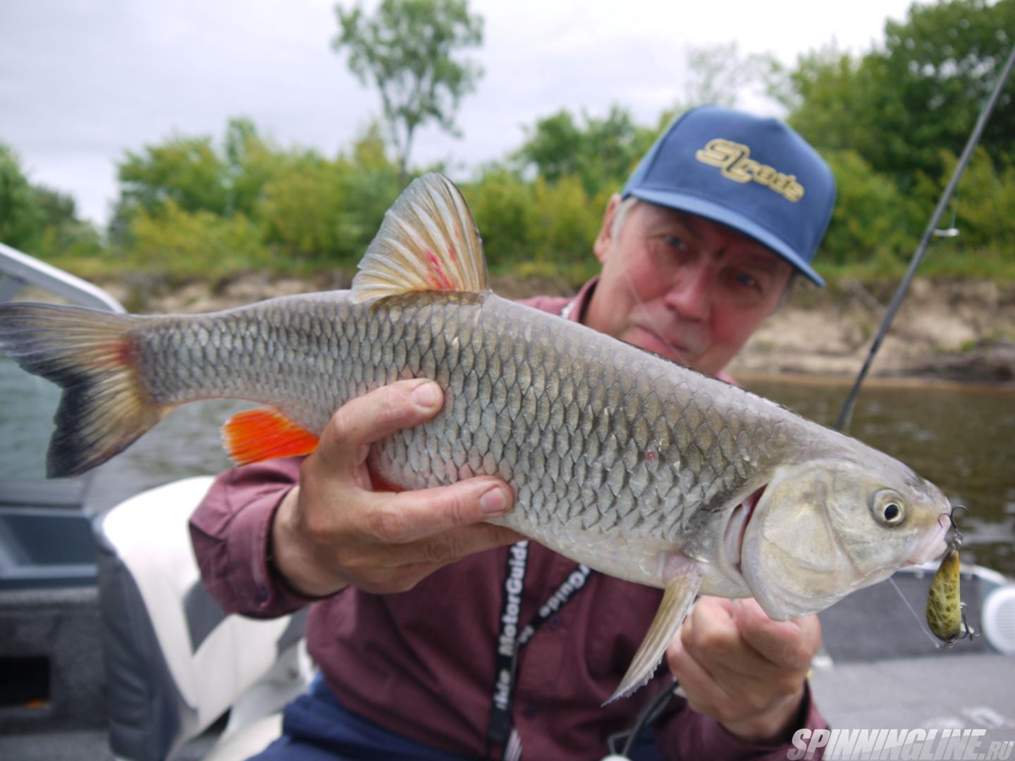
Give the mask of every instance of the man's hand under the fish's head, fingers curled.
<svg viewBox="0 0 1015 761">
<path fill-rule="evenodd" d="M 666 652 L 688 705 L 753 742 L 789 741 L 811 659 L 817 616 L 772 621 L 754 600 L 701 598 Z"/>
</svg>

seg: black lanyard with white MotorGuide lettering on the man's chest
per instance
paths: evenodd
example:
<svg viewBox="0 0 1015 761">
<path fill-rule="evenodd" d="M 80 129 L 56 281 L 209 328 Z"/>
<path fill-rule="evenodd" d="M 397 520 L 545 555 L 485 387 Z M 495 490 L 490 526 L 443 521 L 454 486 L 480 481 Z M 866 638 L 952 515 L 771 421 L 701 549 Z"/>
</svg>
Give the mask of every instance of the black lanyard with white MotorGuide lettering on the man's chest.
<svg viewBox="0 0 1015 761">
<path fill-rule="evenodd" d="M 522 610 L 522 590 L 525 587 L 525 570 L 529 562 L 529 542 L 523 540 L 511 546 L 504 569 L 503 601 L 500 604 L 500 624 L 497 632 L 496 659 L 493 672 L 493 700 L 490 723 L 486 730 L 486 757 L 494 745 L 503 745 L 511 736 L 511 706 L 515 694 L 515 676 L 518 670 L 518 652 L 535 635 L 548 619 L 571 601 L 585 587 L 592 569 L 580 563 L 556 591 L 539 606 L 536 615 L 523 628 L 519 628 Z"/>
</svg>

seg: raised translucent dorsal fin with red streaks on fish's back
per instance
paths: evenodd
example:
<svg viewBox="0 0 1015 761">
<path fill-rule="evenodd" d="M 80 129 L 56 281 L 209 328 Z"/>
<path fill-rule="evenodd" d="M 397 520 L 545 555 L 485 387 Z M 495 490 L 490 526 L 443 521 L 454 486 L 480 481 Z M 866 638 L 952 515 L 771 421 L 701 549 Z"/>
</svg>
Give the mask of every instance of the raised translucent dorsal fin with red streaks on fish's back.
<svg viewBox="0 0 1015 761">
<path fill-rule="evenodd" d="M 472 212 L 437 172 L 414 180 L 388 210 L 352 281 L 356 301 L 413 290 L 488 289 Z"/>
</svg>

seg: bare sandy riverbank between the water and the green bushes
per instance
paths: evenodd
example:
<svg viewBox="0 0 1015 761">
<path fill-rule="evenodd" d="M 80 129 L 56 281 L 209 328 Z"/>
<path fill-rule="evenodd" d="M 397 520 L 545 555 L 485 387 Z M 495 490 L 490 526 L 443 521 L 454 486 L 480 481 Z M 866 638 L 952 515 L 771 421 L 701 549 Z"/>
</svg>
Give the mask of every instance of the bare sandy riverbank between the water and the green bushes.
<svg viewBox="0 0 1015 761">
<path fill-rule="evenodd" d="M 151 284 L 101 284 L 132 308 L 158 313 L 208 312 L 271 296 L 348 287 L 347 275 L 308 280 L 253 274 L 212 290 L 191 283 L 159 293 Z M 493 278 L 509 298 L 566 293 L 552 280 Z M 734 360 L 740 375 L 800 374 L 852 377 L 860 369 L 895 284 L 803 287 L 771 316 Z M 1015 388 L 1015 285 L 917 279 L 885 338 L 872 378 L 920 378 Z"/>
</svg>

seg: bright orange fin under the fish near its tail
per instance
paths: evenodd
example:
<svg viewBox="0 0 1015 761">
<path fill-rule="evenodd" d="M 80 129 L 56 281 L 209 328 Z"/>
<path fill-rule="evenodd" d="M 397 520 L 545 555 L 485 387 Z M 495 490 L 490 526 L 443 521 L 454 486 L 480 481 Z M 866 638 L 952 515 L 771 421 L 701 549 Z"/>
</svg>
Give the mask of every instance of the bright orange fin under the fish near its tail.
<svg viewBox="0 0 1015 761">
<path fill-rule="evenodd" d="M 274 407 L 238 412 L 222 426 L 222 445 L 240 465 L 310 455 L 318 439 Z"/>
</svg>

